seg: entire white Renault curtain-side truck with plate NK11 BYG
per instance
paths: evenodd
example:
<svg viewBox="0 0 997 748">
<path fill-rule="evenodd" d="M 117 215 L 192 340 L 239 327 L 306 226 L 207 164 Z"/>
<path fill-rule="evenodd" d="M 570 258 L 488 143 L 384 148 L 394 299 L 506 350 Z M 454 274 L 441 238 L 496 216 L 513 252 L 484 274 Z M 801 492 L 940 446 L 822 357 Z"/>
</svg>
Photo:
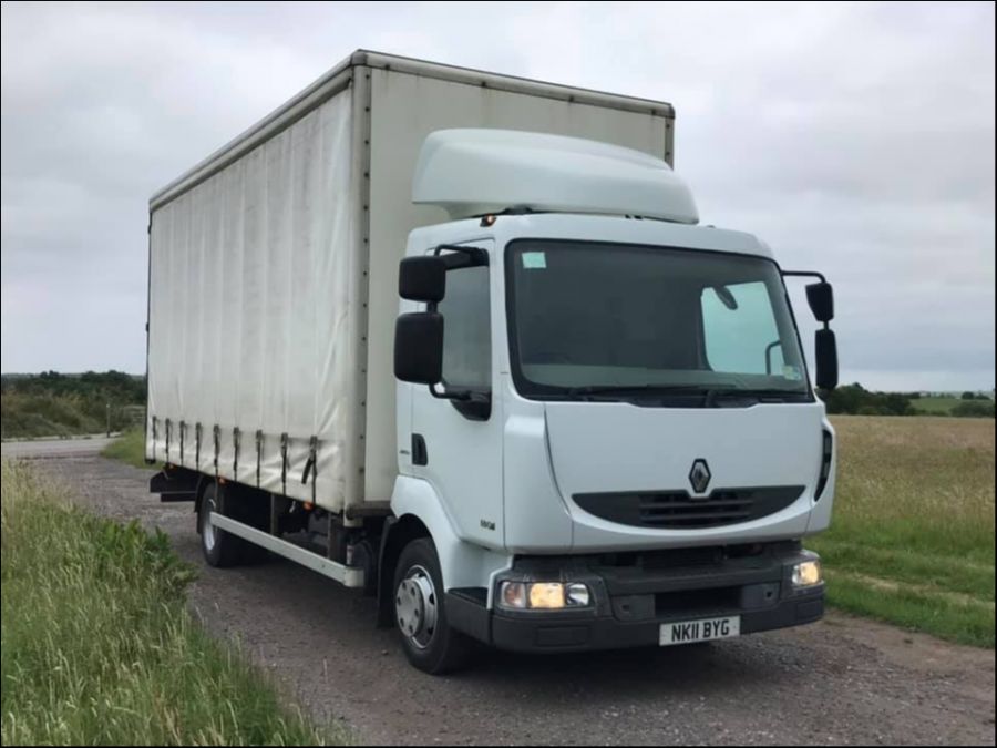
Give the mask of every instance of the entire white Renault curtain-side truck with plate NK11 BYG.
<svg viewBox="0 0 997 748">
<path fill-rule="evenodd" d="M 146 459 L 204 555 L 377 596 L 413 665 L 816 621 L 834 432 L 672 107 L 358 51 L 150 201 Z"/>
</svg>

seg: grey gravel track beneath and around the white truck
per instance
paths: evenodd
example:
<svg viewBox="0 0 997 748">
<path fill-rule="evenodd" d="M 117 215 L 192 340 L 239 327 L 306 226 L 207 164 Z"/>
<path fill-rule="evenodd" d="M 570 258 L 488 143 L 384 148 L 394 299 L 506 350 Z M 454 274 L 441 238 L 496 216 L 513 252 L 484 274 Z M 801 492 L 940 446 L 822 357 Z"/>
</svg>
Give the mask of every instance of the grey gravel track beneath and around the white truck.
<svg viewBox="0 0 997 748">
<path fill-rule="evenodd" d="M 192 601 L 205 624 L 361 742 L 994 745 L 994 653 L 840 615 L 707 646 L 485 653 L 471 672 L 426 676 L 374 628 L 370 598 L 281 560 L 206 567 L 191 506 L 161 504 L 146 471 L 38 464 L 96 511 L 167 532 L 202 570 Z"/>
</svg>

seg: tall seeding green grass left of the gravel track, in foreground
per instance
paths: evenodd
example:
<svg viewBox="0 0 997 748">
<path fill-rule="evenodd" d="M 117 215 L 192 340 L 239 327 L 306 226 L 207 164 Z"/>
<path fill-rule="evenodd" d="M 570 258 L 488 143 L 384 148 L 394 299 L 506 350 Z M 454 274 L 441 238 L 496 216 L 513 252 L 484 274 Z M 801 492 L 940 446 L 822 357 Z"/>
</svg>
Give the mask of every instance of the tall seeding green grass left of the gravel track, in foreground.
<svg viewBox="0 0 997 748">
<path fill-rule="evenodd" d="M 192 619 L 162 532 L 69 506 L 2 465 L 3 745 L 322 745 L 269 679 Z"/>
</svg>

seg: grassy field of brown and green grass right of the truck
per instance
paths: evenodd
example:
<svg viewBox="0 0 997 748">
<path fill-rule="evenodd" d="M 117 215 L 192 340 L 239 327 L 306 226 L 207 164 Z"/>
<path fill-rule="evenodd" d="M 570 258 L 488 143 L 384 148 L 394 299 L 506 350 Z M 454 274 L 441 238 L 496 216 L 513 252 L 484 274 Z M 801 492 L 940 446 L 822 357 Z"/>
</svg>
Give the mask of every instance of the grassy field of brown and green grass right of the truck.
<svg viewBox="0 0 997 748">
<path fill-rule="evenodd" d="M 821 553 L 851 613 L 994 648 L 994 426 L 836 416 L 837 494 Z"/>
</svg>

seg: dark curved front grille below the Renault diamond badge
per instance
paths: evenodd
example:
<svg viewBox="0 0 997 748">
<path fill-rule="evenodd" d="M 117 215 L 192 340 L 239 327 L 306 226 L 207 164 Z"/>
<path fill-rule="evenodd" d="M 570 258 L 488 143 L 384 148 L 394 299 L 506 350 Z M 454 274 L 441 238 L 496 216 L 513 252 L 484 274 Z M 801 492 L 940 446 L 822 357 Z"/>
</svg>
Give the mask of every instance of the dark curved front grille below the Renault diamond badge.
<svg viewBox="0 0 997 748">
<path fill-rule="evenodd" d="M 717 489 L 709 496 L 687 491 L 576 493 L 572 498 L 589 514 L 640 527 L 693 530 L 750 522 L 785 509 L 803 494 L 802 485 Z"/>
</svg>

